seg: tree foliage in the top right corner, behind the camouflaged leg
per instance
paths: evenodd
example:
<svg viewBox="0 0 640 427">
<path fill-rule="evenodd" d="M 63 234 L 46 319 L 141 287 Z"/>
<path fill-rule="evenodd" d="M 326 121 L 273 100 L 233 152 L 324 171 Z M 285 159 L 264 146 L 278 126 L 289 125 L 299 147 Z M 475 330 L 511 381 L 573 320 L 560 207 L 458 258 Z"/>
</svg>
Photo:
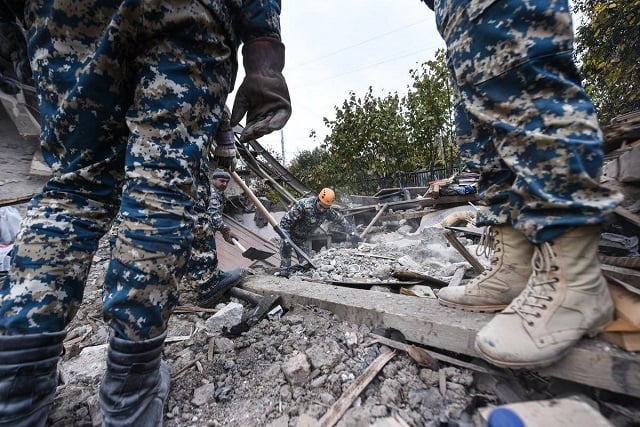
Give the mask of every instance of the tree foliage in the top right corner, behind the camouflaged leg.
<svg viewBox="0 0 640 427">
<path fill-rule="evenodd" d="M 576 55 L 602 123 L 640 109 L 640 1 L 575 0 Z"/>
</svg>

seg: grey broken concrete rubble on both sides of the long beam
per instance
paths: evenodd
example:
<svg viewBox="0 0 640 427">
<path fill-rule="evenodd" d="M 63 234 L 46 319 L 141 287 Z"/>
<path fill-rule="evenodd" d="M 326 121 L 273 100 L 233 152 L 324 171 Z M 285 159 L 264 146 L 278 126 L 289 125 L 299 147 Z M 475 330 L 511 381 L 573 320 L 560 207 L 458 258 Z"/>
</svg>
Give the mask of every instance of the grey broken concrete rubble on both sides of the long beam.
<svg viewBox="0 0 640 427">
<path fill-rule="evenodd" d="M 315 254 L 317 270 L 297 273 L 290 280 L 389 280 L 395 268 L 407 266 L 448 280 L 464 259 L 446 244 L 443 231 L 423 230 L 418 238 L 397 231 L 380 233 L 357 247 L 340 243 Z M 461 241 L 474 251 L 472 239 L 461 237 Z M 90 274 L 88 298 L 70 327 L 68 341 L 72 344 L 60 364 L 63 382 L 52 411 L 56 418 L 50 420 L 55 426 L 99 425 L 96 393 L 104 371 L 100 357 L 104 357 L 107 336 L 98 295 L 106 250 L 103 242 Z M 260 277 L 279 280 L 267 273 Z M 373 290 L 393 291 L 388 286 Z M 241 304 L 246 305 L 226 301 L 213 316 L 194 310 L 172 317 L 164 353 L 173 377 L 165 426 L 304 425 L 320 419 L 367 366 L 391 351 L 371 344 L 370 328 L 343 322 L 313 306 L 290 307 L 279 320 L 265 318 L 239 336 L 223 332 L 223 326 L 231 324 L 227 321 L 213 326 L 213 319 L 226 311 L 235 311 L 231 317 L 237 321 Z M 91 372 L 83 372 L 82 366 L 90 366 L 85 371 Z M 513 393 L 511 402 L 517 401 L 514 395 L 519 400 L 549 397 L 549 390 L 535 376 L 520 374 L 511 381 L 519 384 L 507 387 Z M 553 384 L 556 393 L 574 391 L 562 382 Z M 389 419 L 414 426 L 480 425 L 478 408 L 503 403 L 505 396 L 504 387 L 473 370 L 447 364 L 429 369 L 399 352 L 337 425 L 387 425 Z M 624 407 L 608 415 L 613 425 L 631 425 L 630 417 L 637 419 L 640 411 Z"/>
</svg>

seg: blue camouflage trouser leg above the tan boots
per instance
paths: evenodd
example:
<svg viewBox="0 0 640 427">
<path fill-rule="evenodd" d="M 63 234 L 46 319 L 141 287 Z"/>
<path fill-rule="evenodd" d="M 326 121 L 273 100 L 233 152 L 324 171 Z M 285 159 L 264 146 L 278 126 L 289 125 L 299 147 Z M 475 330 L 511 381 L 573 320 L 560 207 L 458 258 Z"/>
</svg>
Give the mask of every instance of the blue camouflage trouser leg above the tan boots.
<svg viewBox="0 0 640 427">
<path fill-rule="evenodd" d="M 480 172 L 479 225 L 534 243 L 600 224 L 620 201 L 599 183 L 602 134 L 572 59 L 567 0 L 435 0 L 460 153 Z"/>
</svg>

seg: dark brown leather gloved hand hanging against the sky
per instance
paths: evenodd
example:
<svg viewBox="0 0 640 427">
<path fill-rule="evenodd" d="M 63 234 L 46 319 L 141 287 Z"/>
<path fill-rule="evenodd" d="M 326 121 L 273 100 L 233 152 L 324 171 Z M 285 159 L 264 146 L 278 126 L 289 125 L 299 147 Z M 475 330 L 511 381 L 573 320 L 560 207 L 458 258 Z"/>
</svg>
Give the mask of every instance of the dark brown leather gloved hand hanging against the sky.
<svg viewBox="0 0 640 427">
<path fill-rule="evenodd" d="M 284 45 L 271 37 L 258 37 L 242 48 L 246 76 L 238 89 L 231 126 L 247 115 L 240 141 L 257 139 L 282 129 L 291 116 L 289 89 L 282 75 Z"/>
</svg>

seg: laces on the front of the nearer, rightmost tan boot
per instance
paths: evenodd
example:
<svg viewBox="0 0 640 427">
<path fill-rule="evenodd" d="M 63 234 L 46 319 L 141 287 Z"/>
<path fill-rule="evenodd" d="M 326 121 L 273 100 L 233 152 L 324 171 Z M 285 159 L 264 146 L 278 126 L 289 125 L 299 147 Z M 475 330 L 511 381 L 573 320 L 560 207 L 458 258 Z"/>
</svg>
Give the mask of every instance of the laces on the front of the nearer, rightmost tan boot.
<svg viewBox="0 0 640 427">
<path fill-rule="evenodd" d="M 524 319 L 529 326 L 533 326 L 533 318 L 539 318 L 541 310 L 547 308 L 547 302 L 553 301 L 551 293 L 556 292 L 557 278 L 552 272 L 558 269 L 556 255 L 549 242 L 536 245 L 533 250 L 531 267 L 533 274 L 529 278 L 527 287 L 512 303 L 511 309 Z"/>
</svg>

